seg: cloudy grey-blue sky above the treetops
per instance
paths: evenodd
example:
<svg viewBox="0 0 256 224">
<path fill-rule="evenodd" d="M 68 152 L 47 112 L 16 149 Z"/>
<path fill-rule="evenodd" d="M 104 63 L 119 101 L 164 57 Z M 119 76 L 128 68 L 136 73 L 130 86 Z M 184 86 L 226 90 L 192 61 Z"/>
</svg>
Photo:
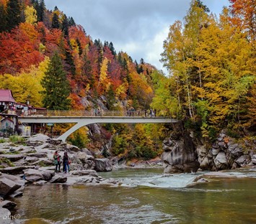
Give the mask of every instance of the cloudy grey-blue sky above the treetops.
<svg viewBox="0 0 256 224">
<path fill-rule="evenodd" d="M 202 1 L 218 16 L 229 6 L 228 0 Z M 166 72 L 159 62 L 163 41 L 169 26 L 185 17 L 190 0 L 45 0 L 45 5 L 73 17 L 92 40 L 112 42 L 116 52 L 123 50 Z"/>
</svg>

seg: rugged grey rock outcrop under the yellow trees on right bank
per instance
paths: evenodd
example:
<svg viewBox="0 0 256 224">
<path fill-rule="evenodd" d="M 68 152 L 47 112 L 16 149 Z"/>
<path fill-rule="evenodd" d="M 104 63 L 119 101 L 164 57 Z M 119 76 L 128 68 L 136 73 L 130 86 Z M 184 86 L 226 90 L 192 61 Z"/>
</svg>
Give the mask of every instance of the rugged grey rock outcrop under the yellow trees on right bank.
<svg viewBox="0 0 256 224">
<path fill-rule="evenodd" d="M 172 136 L 163 143 L 164 172 L 196 172 L 198 168 L 219 171 L 256 164 L 256 155 L 246 150 L 246 146 L 246 143 L 228 136 L 225 130 L 211 147 L 195 139 L 193 134 Z"/>
</svg>

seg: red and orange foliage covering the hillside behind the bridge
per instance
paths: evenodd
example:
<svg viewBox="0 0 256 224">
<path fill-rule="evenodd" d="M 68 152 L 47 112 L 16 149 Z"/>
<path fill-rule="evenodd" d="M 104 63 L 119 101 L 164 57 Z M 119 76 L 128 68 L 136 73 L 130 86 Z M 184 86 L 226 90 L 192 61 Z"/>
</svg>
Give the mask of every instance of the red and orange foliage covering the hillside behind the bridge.
<svg viewBox="0 0 256 224">
<path fill-rule="evenodd" d="M 4 6 L 7 2 L 0 0 Z M 22 14 L 26 6 L 31 5 L 30 0 L 22 0 Z M 12 32 L 0 34 L 0 74 L 17 75 L 31 65 L 36 67 L 45 56 L 50 57 L 57 51 L 61 55 L 64 69 L 69 72 L 72 109 L 84 110 L 81 97 L 105 94 L 110 86 L 115 97 L 122 100 L 151 95 L 151 88 L 146 83 L 146 70 L 151 72 L 149 65 L 145 63 L 144 74 L 138 75 L 127 53 L 112 55 L 107 45 L 102 49 L 103 45 L 94 43 L 81 25 L 69 27 L 69 37 L 63 35 L 61 29 L 51 29 L 53 13 L 58 15 L 61 22 L 64 15 L 62 11 L 46 10 L 43 22 L 21 23 Z"/>
</svg>

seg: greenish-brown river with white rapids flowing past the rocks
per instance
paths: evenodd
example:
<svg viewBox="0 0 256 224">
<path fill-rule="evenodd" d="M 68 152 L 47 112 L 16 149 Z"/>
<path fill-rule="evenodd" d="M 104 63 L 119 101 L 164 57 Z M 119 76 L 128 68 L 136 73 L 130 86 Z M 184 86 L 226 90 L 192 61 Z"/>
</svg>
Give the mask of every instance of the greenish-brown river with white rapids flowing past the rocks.
<svg viewBox="0 0 256 224">
<path fill-rule="evenodd" d="M 189 185 L 200 173 L 118 169 L 100 176 L 120 187 L 30 185 L 14 200 L 16 214 L 25 224 L 256 223 L 256 169 L 229 173 L 241 178 Z"/>
</svg>

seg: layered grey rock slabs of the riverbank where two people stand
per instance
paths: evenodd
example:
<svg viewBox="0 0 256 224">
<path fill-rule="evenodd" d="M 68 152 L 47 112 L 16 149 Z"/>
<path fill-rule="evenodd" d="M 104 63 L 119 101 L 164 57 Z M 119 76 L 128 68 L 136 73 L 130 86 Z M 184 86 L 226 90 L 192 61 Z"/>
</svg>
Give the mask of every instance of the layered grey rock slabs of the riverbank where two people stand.
<svg viewBox="0 0 256 224">
<path fill-rule="evenodd" d="M 71 159 L 71 172 L 55 172 L 53 154 L 58 150 L 63 157 L 67 151 Z M 118 164 L 115 159 L 95 159 L 89 150 L 79 149 L 76 146 L 63 143 L 58 139 L 50 139 L 43 134 L 37 134 L 21 141 L 6 141 L 0 144 L 0 215 L 4 218 L 11 214 L 16 204 L 12 198 L 23 195 L 28 185 L 87 185 L 118 187 L 125 185 L 120 179 L 103 178 L 99 172 L 110 172 L 115 169 L 145 169 L 162 168 L 160 158 L 150 161 L 133 160 L 128 164 Z M 164 169 L 163 169 L 164 170 Z M 172 187 L 165 185 L 166 177 L 172 174 L 162 174 L 156 180 L 152 180 L 149 186 Z M 241 178 L 241 175 L 224 174 L 224 172 L 211 172 L 208 174 L 192 175 L 189 182 L 181 187 L 195 185 L 198 182 L 208 182 L 213 178 Z M 161 179 L 161 185 L 159 184 Z M 133 186 L 133 183 L 131 184 Z"/>
</svg>

